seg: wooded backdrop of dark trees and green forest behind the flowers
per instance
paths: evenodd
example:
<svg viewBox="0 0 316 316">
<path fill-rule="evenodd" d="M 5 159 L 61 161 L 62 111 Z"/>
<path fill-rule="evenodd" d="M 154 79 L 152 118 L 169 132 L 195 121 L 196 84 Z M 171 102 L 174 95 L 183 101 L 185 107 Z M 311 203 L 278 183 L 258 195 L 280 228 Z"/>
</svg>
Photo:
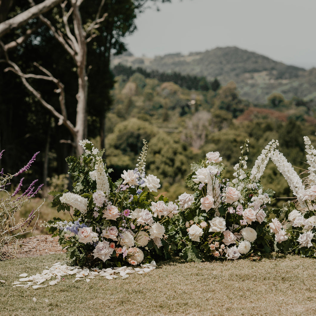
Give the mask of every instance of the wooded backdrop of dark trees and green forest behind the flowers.
<svg viewBox="0 0 316 316">
<path fill-rule="evenodd" d="M 246 139 L 248 166 L 278 139 L 288 160 L 304 169 L 303 136 L 316 144 L 315 109 L 305 100 L 274 93 L 254 106 L 234 82 L 110 68 L 111 54 L 125 50 L 124 36 L 135 30 L 146 2 L 72 0 L 0 33 L 0 167 L 15 172 L 40 151 L 29 177 L 49 186 L 67 173 L 65 158 L 80 153 L 78 139 L 88 138 L 105 148 L 116 179 L 134 168 L 146 139 L 147 172 L 161 179 L 170 198 L 186 190 L 190 163 L 209 151 L 221 153 L 229 174 Z M 1 1 L 0 30 L 29 3 L 41 1 Z M 272 164 L 263 183 L 279 196 L 290 194 Z"/>
</svg>

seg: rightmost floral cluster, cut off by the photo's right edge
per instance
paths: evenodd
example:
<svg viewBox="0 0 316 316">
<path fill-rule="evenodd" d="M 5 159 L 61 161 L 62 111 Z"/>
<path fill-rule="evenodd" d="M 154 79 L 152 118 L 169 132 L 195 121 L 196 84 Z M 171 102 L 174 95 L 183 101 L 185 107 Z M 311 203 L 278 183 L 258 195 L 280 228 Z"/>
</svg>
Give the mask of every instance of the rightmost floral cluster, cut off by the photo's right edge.
<svg viewBox="0 0 316 316">
<path fill-rule="evenodd" d="M 307 136 L 304 143 L 309 167 L 303 179 L 281 152 L 276 150 L 271 155 L 296 199 L 273 210 L 276 217 L 269 227 L 275 236 L 276 249 L 316 258 L 316 149 Z"/>
</svg>

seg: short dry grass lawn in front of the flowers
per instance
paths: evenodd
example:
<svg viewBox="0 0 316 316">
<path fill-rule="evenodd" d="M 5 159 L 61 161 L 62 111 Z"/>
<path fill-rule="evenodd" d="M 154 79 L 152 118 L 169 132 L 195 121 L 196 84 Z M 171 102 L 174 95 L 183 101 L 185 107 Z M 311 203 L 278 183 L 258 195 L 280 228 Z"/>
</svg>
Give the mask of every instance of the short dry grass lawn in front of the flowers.
<svg viewBox="0 0 316 316">
<path fill-rule="evenodd" d="M 165 261 L 148 274 L 126 279 L 97 276 L 89 283 L 73 283 L 75 276 L 66 276 L 45 288 L 12 287 L 21 273 L 41 273 L 64 258 L 60 254 L 1 261 L 0 279 L 5 283 L 0 283 L 0 314 L 316 315 L 316 262 L 297 256 L 257 262 Z"/>
</svg>

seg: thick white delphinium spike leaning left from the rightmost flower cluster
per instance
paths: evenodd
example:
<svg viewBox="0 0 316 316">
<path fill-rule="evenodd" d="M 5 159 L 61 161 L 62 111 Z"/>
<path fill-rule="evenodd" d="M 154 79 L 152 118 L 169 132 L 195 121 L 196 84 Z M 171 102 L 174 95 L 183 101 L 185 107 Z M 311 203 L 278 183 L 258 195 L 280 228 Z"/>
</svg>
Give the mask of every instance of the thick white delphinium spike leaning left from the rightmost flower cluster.
<svg viewBox="0 0 316 316">
<path fill-rule="evenodd" d="M 276 165 L 280 173 L 282 173 L 285 180 L 288 182 L 290 189 L 293 194 L 297 197 L 298 202 L 303 206 L 303 197 L 305 196 L 305 187 L 302 183 L 301 178 L 295 172 L 292 164 L 287 161 L 279 150 L 275 150 L 270 153 L 270 159 Z"/>
</svg>

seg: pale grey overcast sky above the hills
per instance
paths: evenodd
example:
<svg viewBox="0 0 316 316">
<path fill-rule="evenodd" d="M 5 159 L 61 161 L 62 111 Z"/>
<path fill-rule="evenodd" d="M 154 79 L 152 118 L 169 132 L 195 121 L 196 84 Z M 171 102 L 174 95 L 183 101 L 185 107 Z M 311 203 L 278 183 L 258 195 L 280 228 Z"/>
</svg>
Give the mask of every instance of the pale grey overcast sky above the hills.
<svg viewBox="0 0 316 316">
<path fill-rule="evenodd" d="M 316 0 L 172 0 L 146 9 L 125 42 L 135 56 L 237 46 L 316 67 Z"/>
</svg>

